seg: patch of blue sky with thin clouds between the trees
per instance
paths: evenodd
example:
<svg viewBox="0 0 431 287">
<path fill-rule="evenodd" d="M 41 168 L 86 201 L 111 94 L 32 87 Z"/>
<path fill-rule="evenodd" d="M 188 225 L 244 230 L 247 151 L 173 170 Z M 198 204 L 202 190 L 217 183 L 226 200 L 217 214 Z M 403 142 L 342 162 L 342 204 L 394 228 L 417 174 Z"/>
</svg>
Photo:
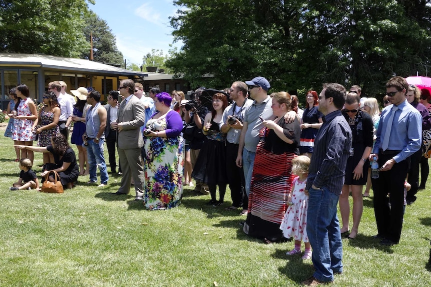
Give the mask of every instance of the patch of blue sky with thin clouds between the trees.
<svg viewBox="0 0 431 287">
<path fill-rule="evenodd" d="M 96 0 L 88 7 L 107 22 L 127 63 L 139 66 L 151 49 L 166 54 L 173 42 L 169 16 L 175 15 L 178 7 L 172 0 Z M 173 45 L 179 49 L 181 43 Z"/>
</svg>

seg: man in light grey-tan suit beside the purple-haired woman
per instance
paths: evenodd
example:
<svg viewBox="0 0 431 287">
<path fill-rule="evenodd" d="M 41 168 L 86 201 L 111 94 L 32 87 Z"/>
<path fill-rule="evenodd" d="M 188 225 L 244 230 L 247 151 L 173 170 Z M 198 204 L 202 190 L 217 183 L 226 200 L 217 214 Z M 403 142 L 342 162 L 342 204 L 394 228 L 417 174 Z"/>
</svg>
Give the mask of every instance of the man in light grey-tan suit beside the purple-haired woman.
<svg viewBox="0 0 431 287">
<path fill-rule="evenodd" d="M 140 127 L 145 122 L 145 108 L 133 92 L 133 80 L 120 82 L 119 93 L 124 99 L 119 106 L 117 123 L 112 123 L 111 126 L 118 129 L 118 158 L 122 179 L 118 191 L 114 194 L 128 194 L 130 179 L 133 178 L 136 192 L 134 200 L 142 200 L 145 177 L 141 163 L 143 138 Z"/>
</svg>

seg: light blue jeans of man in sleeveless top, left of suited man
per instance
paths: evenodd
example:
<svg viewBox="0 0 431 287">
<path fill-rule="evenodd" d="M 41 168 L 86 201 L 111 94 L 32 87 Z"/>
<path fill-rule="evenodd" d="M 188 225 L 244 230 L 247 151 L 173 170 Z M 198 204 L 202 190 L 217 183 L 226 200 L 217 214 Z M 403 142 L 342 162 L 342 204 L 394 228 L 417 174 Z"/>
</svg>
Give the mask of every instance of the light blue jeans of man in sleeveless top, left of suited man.
<svg viewBox="0 0 431 287">
<path fill-rule="evenodd" d="M 96 164 L 100 171 L 100 183 L 107 184 L 109 176 L 107 175 L 105 158 L 103 155 L 104 139 L 99 139 L 99 143 L 95 143 L 93 139 L 88 140 L 87 158 L 89 165 L 90 181 L 97 182 Z"/>
</svg>

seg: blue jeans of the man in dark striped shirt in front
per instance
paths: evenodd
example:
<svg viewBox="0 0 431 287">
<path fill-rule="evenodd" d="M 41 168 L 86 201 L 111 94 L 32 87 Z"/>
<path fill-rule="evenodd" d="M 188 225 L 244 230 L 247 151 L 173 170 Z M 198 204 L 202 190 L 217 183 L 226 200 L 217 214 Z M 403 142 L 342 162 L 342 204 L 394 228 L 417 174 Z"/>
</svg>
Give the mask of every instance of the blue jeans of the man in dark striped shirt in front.
<svg viewBox="0 0 431 287">
<path fill-rule="evenodd" d="M 342 243 L 336 215 L 338 195 L 327 188 L 310 188 L 307 211 L 307 235 L 313 253 L 313 276 L 324 282 L 333 281 L 342 272 Z"/>
</svg>

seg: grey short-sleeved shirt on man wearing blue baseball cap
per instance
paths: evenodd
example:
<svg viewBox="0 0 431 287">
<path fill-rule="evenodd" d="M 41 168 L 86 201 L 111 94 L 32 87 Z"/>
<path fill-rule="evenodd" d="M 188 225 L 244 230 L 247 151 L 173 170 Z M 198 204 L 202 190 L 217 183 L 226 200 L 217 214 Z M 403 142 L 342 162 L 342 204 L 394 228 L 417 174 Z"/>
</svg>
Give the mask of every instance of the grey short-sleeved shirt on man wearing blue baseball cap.
<svg viewBox="0 0 431 287">
<path fill-rule="evenodd" d="M 248 123 L 244 138 L 244 148 L 249 152 L 256 152 L 259 143 L 259 131 L 263 128 L 262 121 L 272 119 L 272 100 L 267 96 L 261 103 L 253 101 L 244 114 L 244 122 Z"/>
</svg>

